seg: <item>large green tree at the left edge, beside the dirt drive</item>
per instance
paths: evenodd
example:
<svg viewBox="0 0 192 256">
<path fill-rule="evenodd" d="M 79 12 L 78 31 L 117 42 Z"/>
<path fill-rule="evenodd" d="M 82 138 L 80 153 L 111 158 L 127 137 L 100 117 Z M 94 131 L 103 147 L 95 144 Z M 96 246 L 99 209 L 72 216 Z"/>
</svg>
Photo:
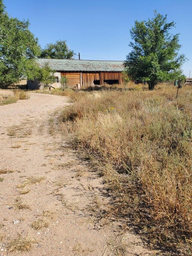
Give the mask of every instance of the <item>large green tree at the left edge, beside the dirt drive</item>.
<svg viewBox="0 0 192 256">
<path fill-rule="evenodd" d="M 38 39 L 29 30 L 29 21 L 10 17 L 0 0 L 0 87 L 22 77 L 33 79 L 40 53 Z"/>
</svg>

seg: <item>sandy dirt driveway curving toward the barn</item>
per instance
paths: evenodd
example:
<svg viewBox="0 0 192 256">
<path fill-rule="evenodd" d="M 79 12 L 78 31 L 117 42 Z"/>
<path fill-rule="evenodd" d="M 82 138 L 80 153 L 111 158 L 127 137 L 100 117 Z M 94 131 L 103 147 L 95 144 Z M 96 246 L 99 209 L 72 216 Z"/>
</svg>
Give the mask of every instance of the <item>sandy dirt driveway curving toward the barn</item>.
<svg viewBox="0 0 192 256">
<path fill-rule="evenodd" d="M 29 94 L 29 100 L 0 106 L 0 170 L 7 171 L 0 174 L 0 255 L 118 255 L 106 249 L 106 242 L 116 239 L 118 224 L 93 224 L 94 208 L 105 207 L 107 200 L 102 179 L 58 132 L 55 110 L 70 104 L 68 98 Z M 41 182 L 17 188 L 29 177 L 42 176 Z M 30 191 L 20 194 L 21 189 Z M 16 200 L 30 209 L 16 209 Z M 47 227 L 36 230 L 31 224 L 37 220 Z M 35 240 L 29 252 L 8 252 L 18 233 Z M 125 255 L 155 255 L 133 233 L 119 238 Z"/>
</svg>

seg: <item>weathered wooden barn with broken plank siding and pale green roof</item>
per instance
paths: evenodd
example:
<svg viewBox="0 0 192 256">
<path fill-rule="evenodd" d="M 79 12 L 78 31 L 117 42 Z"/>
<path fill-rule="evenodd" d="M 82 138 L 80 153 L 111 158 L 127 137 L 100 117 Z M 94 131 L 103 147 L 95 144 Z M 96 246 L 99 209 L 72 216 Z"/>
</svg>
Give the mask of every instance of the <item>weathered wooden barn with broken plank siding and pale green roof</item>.
<svg viewBox="0 0 192 256">
<path fill-rule="evenodd" d="M 76 59 L 37 59 L 40 67 L 45 62 L 55 70 L 55 83 L 52 87 L 59 88 L 61 76 L 69 80 L 68 86 L 94 86 L 104 84 L 121 84 L 123 61 L 76 60 Z M 28 80 L 28 89 L 38 89 L 38 80 Z"/>
</svg>

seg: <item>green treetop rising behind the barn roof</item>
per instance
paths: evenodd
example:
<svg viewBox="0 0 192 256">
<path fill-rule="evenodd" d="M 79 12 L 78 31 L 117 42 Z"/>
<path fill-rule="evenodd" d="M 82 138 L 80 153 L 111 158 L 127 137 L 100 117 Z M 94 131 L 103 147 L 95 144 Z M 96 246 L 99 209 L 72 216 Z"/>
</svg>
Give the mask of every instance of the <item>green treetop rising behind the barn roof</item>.
<svg viewBox="0 0 192 256">
<path fill-rule="evenodd" d="M 47 44 L 42 50 L 40 58 L 45 59 L 72 59 L 74 52 L 71 51 L 66 41 L 56 41 L 55 44 Z"/>
</svg>

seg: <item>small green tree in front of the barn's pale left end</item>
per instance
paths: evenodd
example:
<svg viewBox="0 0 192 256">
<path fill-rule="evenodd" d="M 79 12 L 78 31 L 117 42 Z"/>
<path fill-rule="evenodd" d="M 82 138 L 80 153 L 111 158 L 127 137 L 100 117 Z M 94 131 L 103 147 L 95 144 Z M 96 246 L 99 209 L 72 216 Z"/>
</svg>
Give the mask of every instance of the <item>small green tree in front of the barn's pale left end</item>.
<svg viewBox="0 0 192 256">
<path fill-rule="evenodd" d="M 38 80 L 40 83 L 43 83 L 44 87 L 49 86 L 54 83 L 54 73 L 49 66 L 49 62 L 45 62 L 44 66 L 39 69 Z"/>
</svg>

